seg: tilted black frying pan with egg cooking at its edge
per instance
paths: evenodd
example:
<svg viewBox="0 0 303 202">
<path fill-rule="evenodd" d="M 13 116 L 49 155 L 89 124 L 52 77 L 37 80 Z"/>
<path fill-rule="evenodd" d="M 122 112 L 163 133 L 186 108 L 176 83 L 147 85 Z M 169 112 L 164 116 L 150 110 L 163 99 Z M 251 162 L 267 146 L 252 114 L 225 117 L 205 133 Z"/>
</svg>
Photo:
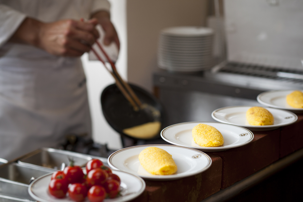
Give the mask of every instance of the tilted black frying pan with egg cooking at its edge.
<svg viewBox="0 0 303 202">
<path fill-rule="evenodd" d="M 161 129 L 165 126 L 165 114 L 160 102 L 144 89 L 129 84 L 135 94 L 143 104 L 148 104 L 160 112 L 158 121 L 161 122 Z M 131 137 L 123 133 L 123 129 L 138 126 L 154 121 L 154 117 L 150 113 L 145 113 L 144 110 L 134 111 L 132 105 L 126 100 L 116 84 L 106 87 L 101 95 L 102 112 L 108 124 L 120 134 Z M 140 139 L 156 139 L 160 136 L 160 132 L 152 138 Z M 133 139 L 138 139 L 131 137 Z"/>
</svg>

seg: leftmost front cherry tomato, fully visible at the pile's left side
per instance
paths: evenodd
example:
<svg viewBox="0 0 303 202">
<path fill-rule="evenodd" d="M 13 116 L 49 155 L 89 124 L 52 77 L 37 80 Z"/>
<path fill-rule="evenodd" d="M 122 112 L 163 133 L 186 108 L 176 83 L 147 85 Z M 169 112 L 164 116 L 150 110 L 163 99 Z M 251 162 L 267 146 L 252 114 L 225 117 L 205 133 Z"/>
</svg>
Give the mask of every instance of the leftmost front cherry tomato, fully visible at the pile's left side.
<svg viewBox="0 0 303 202">
<path fill-rule="evenodd" d="M 48 191 L 56 198 L 64 198 L 68 190 L 68 183 L 65 179 L 53 179 L 48 185 Z"/>
</svg>

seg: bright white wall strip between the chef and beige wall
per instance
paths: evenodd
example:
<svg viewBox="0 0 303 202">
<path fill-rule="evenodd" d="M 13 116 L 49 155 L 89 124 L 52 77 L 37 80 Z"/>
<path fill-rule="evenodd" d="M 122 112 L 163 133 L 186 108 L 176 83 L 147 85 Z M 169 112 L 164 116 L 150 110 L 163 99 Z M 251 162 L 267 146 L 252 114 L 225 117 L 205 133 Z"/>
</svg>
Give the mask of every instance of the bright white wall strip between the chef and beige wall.
<svg viewBox="0 0 303 202">
<path fill-rule="evenodd" d="M 116 63 L 122 78 L 127 72 L 127 36 L 126 36 L 126 0 L 109 0 L 111 2 L 111 19 L 116 27 L 120 39 L 120 53 Z M 118 150 L 122 148 L 120 135 L 109 126 L 105 120 L 100 103 L 100 96 L 105 87 L 114 83 L 112 76 L 99 61 L 88 61 L 88 54 L 82 56 L 82 62 L 87 78 L 88 99 L 92 117 L 93 139 L 101 144 L 108 144 L 108 148 Z"/>
</svg>

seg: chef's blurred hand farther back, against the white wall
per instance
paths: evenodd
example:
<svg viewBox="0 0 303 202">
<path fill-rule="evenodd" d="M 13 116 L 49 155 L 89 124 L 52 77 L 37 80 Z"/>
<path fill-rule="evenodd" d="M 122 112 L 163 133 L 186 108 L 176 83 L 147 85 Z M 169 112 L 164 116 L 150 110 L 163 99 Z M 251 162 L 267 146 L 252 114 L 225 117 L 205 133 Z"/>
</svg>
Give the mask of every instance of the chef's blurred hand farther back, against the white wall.
<svg viewBox="0 0 303 202">
<path fill-rule="evenodd" d="M 115 41 L 120 49 L 120 41 L 117 31 L 111 22 L 110 14 L 107 11 L 98 11 L 92 15 L 92 18 L 98 19 L 98 23 L 105 31 L 104 44 L 109 45 L 112 41 Z"/>
</svg>

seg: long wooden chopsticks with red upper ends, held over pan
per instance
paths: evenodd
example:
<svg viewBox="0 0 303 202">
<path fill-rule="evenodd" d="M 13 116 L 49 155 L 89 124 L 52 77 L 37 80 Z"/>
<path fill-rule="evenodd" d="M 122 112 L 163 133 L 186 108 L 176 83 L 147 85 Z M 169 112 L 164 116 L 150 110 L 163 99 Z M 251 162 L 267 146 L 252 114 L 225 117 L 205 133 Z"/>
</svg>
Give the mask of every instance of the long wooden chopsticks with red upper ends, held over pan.
<svg viewBox="0 0 303 202">
<path fill-rule="evenodd" d="M 101 61 L 104 65 L 104 67 L 106 68 L 106 70 L 114 77 L 115 81 L 116 81 L 116 85 L 119 88 L 119 90 L 122 92 L 122 94 L 124 95 L 124 97 L 132 104 L 133 108 L 135 111 L 138 111 L 141 108 L 142 102 L 139 100 L 139 98 L 137 97 L 137 95 L 135 94 L 135 92 L 132 90 L 132 88 L 128 85 L 127 82 L 125 82 L 121 76 L 119 75 L 115 64 L 112 62 L 112 60 L 108 57 L 107 53 L 105 52 L 105 50 L 102 48 L 102 45 L 96 41 L 98 47 L 100 48 L 100 50 L 102 51 L 102 53 L 105 55 L 105 58 L 109 61 L 111 67 L 112 67 L 112 71 L 110 71 L 105 62 L 103 61 L 103 59 L 98 55 L 97 51 L 94 48 L 91 48 L 92 51 L 94 52 L 94 54 L 96 55 L 96 57 L 98 58 L 99 61 Z"/>
</svg>

